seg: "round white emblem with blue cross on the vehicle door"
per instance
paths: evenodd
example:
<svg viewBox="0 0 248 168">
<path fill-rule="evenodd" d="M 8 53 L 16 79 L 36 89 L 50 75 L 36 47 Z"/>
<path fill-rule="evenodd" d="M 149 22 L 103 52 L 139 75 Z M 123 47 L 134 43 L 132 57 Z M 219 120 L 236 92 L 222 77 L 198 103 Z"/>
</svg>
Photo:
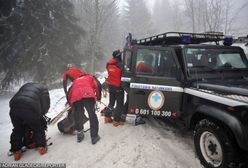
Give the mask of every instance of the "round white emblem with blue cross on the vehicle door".
<svg viewBox="0 0 248 168">
<path fill-rule="evenodd" d="M 152 110 L 159 110 L 164 105 L 164 94 L 161 91 L 152 91 L 147 101 Z"/>
</svg>

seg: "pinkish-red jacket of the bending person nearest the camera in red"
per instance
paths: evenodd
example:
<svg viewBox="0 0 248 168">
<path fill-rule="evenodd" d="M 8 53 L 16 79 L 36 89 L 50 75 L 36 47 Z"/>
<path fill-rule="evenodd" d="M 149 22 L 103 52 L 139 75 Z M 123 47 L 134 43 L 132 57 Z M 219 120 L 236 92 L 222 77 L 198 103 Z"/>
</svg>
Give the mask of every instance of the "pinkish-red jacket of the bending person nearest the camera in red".
<svg viewBox="0 0 248 168">
<path fill-rule="evenodd" d="M 70 105 L 81 99 L 96 99 L 97 97 L 99 97 L 97 82 L 93 76 L 88 74 L 75 79 L 68 91 L 68 100 Z"/>
</svg>

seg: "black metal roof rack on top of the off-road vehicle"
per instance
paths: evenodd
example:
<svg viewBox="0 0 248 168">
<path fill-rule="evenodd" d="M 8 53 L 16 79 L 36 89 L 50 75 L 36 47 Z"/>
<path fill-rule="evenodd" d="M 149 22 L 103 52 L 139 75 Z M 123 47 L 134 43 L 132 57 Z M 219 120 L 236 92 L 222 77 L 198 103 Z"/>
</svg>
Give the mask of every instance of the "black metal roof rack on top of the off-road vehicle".
<svg viewBox="0 0 248 168">
<path fill-rule="evenodd" d="M 208 33 L 167 32 L 137 40 L 137 44 L 138 45 L 185 44 L 182 41 L 183 36 L 190 36 L 190 41 L 188 44 L 215 42 L 216 45 L 218 45 L 219 41 L 222 41 L 224 39 L 224 35 L 221 32 L 208 32 Z"/>
</svg>

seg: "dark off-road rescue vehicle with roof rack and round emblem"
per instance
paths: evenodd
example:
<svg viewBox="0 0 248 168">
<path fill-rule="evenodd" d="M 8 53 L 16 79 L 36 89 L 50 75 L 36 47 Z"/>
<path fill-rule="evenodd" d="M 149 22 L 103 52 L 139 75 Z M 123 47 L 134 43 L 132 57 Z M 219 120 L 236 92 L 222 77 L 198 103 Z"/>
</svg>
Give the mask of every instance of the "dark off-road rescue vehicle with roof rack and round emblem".
<svg viewBox="0 0 248 168">
<path fill-rule="evenodd" d="M 170 32 L 124 50 L 128 112 L 193 129 L 207 168 L 247 166 L 248 60 L 231 42 L 221 34 Z"/>
</svg>

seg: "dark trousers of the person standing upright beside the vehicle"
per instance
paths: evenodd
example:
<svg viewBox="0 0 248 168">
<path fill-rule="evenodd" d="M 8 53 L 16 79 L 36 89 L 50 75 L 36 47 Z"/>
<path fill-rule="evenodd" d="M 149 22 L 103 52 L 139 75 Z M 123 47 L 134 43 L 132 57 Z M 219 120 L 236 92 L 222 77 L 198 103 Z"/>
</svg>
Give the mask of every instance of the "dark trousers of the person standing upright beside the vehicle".
<svg viewBox="0 0 248 168">
<path fill-rule="evenodd" d="M 124 90 L 122 88 L 115 88 L 109 85 L 109 108 L 114 108 L 116 102 L 116 108 L 113 110 L 114 121 L 120 122 L 121 115 L 123 113 L 124 104 Z M 111 117 L 111 114 L 105 115 Z"/>
</svg>

